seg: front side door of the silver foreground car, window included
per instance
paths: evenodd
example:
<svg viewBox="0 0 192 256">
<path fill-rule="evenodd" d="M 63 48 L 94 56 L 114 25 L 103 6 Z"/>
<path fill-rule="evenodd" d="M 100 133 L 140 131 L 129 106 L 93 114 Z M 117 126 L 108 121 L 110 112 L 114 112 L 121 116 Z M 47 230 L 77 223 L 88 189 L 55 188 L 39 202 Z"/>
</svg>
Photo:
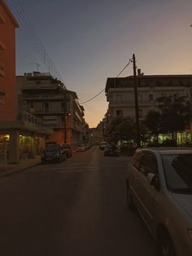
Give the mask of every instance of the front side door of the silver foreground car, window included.
<svg viewBox="0 0 192 256">
<path fill-rule="evenodd" d="M 159 189 L 151 185 L 149 174 L 155 174 L 158 177 L 158 161 L 154 152 L 145 152 L 142 157 L 140 175 L 137 185 L 141 204 L 142 218 L 145 220 L 151 232 L 155 233 L 155 226 L 160 210 L 159 199 L 161 193 Z"/>
</svg>

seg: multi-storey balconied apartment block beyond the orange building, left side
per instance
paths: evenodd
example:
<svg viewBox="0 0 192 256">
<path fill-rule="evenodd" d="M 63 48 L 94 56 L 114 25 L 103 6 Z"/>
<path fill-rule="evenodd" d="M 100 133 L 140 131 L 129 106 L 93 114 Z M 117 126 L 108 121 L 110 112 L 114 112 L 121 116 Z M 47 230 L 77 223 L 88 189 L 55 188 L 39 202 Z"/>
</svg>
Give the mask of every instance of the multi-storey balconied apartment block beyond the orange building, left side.
<svg viewBox="0 0 192 256">
<path fill-rule="evenodd" d="M 24 73 L 17 77 L 20 110 L 43 120 L 46 128 L 54 130 L 46 142 L 71 143 L 75 150 L 83 142 L 84 108 L 76 92 L 67 90 L 50 73 Z"/>
</svg>

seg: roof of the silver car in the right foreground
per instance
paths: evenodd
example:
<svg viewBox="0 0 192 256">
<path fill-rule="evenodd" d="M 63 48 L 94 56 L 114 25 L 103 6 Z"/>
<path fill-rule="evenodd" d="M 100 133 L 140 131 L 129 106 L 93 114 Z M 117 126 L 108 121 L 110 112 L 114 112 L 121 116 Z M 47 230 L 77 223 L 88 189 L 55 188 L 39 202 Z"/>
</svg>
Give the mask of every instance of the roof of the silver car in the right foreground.
<svg viewBox="0 0 192 256">
<path fill-rule="evenodd" d="M 173 155 L 173 154 L 192 154 L 192 148 L 179 148 L 179 147 L 166 147 L 166 148 L 137 148 L 137 152 L 142 151 L 151 151 L 159 152 L 161 155 Z"/>
</svg>

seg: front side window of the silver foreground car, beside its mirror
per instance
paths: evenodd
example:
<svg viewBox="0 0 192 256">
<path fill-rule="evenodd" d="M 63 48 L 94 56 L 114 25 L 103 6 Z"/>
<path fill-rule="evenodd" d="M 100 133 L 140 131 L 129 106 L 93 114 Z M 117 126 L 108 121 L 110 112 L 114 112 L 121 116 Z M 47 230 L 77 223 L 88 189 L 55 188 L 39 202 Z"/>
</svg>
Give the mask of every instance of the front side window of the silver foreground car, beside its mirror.
<svg viewBox="0 0 192 256">
<path fill-rule="evenodd" d="M 157 174 L 158 172 L 158 164 L 156 156 L 153 152 L 145 152 L 144 156 L 142 157 L 141 168 L 143 174 Z"/>
</svg>

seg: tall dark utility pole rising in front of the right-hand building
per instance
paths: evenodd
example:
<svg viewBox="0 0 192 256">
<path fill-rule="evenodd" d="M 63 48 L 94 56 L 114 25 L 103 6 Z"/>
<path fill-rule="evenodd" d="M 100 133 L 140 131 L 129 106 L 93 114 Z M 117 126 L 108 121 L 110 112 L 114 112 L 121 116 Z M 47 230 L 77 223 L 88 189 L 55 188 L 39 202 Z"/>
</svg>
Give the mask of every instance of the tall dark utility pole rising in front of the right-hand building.
<svg viewBox="0 0 192 256">
<path fill-rule="evenodd" d="M 137 133 L 137 147 L 141 147 L 140 130 L 139 130 L 139 114 L 138 114 L 138 96 L 137 96 L 137 73 L 136 73 L 136 60 L 133 54 L 133 81 L 134 81 L 134 99 L 135 99 L 135 121 Z"/>
</svg>

